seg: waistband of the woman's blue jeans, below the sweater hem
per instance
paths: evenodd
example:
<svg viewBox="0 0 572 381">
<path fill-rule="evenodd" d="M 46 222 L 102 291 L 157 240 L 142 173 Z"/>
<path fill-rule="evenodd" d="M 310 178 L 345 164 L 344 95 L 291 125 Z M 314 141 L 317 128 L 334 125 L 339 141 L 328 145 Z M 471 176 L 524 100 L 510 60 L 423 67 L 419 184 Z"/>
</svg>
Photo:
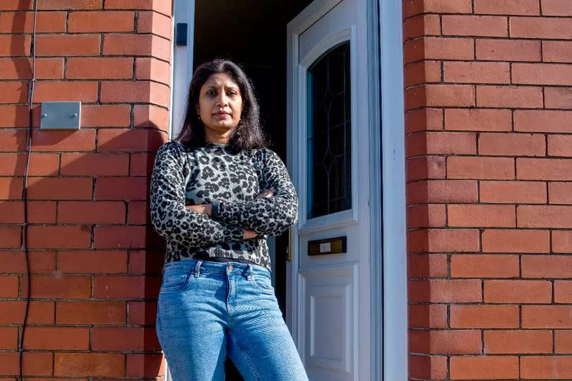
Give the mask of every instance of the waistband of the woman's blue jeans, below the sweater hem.
<svg viewBox="0 0 572 381">
<path fill-rule="evenodd" d="M 230 272 L 236 274 L 244 274 L 251 276 L 251 274 L 261 274 L 270 276 L 270 271 L 258 264 L 245 264 L 240 262 L 213 262 L 213 261 L 203 261 L 200 259 L 185 259 L 181 261 L 168 262 L 163 266 L 162 273 L 169 269 L 186 269 L 188 271 L 193 271 L 195 276 L 198 276 L 201 272 L 209 274 L 227 274 Z"/>
</svg>

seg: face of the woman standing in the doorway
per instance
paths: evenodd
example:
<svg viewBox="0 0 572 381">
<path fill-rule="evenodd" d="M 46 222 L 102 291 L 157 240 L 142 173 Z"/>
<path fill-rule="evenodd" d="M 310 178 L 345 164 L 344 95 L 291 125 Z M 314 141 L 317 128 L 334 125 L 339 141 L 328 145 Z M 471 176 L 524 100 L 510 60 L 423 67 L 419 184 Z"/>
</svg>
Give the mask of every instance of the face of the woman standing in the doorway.
<svg viewBox="0 0 572 381">
<path fill-rule="evenodd" d="M 197 111 L 205 129 L 226 134 L 237 126 L 242 113 L 242 94 L 238 84 L 228 74 L 211 74 L 201 87 Z"/>
</svg>

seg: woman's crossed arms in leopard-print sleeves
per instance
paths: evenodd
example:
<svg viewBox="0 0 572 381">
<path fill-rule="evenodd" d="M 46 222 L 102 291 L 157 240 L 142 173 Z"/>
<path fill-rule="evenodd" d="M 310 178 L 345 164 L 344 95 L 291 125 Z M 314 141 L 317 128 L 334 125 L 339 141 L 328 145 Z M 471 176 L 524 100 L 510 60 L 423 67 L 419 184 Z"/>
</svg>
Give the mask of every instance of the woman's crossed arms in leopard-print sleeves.
<svg viewBox="0 0 572 381">
<path fill-rule="evenodd" d="M 178 143 L 165 143 L 155 158 L 150 189 L 151 222 L 157 233 L 198 247 L 259 234 L 280 235 L 294 225 L 298 199 L 284 163 L 268 149 L 259 154 L 262 162 L 259 186 L 268 192 L 249 201 L 221 200 L 218 216 L 211 218 L 210 204 L 185 206 L 185 153 Z"/>
</svg>

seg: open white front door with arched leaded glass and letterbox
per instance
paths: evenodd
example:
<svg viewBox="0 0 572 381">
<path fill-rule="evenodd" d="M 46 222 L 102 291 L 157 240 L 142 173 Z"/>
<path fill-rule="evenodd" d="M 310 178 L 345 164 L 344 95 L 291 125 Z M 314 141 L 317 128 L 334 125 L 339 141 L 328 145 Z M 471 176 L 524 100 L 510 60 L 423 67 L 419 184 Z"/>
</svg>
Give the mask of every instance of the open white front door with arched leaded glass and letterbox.
<svg viewBox="0 0 572 381">
<path fill-rule="evenodd" d="M 359 1 L 315 0 L 287 28 L 288 165 L 299 196 L 287 322 L 311 380 L 370 378 L 367 27 Z"/>
</svg>

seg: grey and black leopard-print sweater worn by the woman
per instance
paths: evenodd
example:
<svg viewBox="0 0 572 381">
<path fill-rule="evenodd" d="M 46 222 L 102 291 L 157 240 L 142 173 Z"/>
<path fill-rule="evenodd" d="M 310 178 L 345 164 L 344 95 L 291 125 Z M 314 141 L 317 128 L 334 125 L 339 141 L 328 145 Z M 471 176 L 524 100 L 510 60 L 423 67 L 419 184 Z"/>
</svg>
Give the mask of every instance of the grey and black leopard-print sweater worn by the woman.
<svg viewBox="0 0 572 381">
<path fill-rule="evenodd" d="M 273 197 L 254 199 L 266 189 Z M 220 201 L 211 218 L 188 205 Z M 167 240 L 165 263 L 227 258 L 270 269 L 266 238 L 298 219 L 298 198 L 280 157 L 269 148 L 232 153 L 225 143 L 159 148 L 150 187 L 153 228 Z M 244 240 L 243 229 L 258 233 Z"/>
</svg>

